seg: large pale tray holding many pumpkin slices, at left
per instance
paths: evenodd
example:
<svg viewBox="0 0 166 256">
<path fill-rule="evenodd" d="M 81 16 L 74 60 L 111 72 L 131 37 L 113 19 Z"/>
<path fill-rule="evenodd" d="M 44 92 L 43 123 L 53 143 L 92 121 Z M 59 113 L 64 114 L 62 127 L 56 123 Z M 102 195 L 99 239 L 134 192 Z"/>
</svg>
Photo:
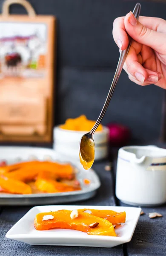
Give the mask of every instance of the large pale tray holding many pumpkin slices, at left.
<svg viewBox="0 0 166 256">
<path fill-rule="evenodd" d="M 57 154 L 54 150 L 48 148 L 32 147 L 11 147 L 0 146 L 0 160 L 6 160 L 7 163 L 27 161 L 37 158 L 38 160 L 52 159 L 60 163 L 71 163 L 77 169 L 77 179 L 80 181 L 81 190 L 74 192 L 15 195 L 0 193 L 0 205 L 48 205 L 62 204 L 74 201 L 82 201 L 92 198 L 100 187 L 100 180 L 93 169 L 84 170 L 79 162 L 73 159 Z M 91 180 L 89 185 L 83 183 L 83 179 Z"/>
</svg>

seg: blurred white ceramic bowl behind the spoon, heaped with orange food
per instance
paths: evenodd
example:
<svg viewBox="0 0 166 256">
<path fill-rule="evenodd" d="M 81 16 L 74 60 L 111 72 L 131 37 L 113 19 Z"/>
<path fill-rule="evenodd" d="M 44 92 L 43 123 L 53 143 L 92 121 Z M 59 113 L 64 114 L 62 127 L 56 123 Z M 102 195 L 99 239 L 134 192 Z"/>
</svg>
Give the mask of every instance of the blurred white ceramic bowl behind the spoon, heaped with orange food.
<svg viewBox="0 0 166 256">
<path fill-rule="evenodd" d="M 70 131 L 60 128 L 54 128 L 54 145 L 53 148 L 60 154 L 64 154 L 79 160 L 79 143 L 81 137 L 87 131 Z M 109 130 L 103 127 L 103 131 L 94 133 L 95 143 L 95 160 L 101 160 L 108 154 Z"/>
</svg>

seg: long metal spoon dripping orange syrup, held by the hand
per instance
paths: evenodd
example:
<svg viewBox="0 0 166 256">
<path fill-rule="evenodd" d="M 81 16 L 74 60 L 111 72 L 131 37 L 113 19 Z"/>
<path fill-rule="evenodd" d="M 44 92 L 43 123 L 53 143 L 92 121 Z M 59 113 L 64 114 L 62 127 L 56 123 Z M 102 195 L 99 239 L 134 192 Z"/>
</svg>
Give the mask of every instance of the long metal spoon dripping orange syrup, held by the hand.
<svg viewBox="0 0 166 256">
<path fill-rule="evenodd" d="M 133 10 L 133 15 L 135 15 L 136 19 L 138 20 L 140 16 L 140 3 L 137 3 L 135 6 L 135 9 Z M 114 79 L 112 81 L 108 96 L 106 98 L 106 102 L 103 106 L 103 109 L 100 113 L 100 116 L 98 117 L 94 127 L 92 130 L 84 134 L 83 137 L 80 140 L 80 145 L 79 145 L 79 154 L 80 154 L 80 163 L 83 165 L 84 169 L 89 169 L 92 167 L 92 164 L 94 162 L 94 151 L 95 151 L 95 145 L 94 145 L 94 140 L 93 140 L 93 134 L 96 131 L 98 125 L 100 124 L 101 120 L 103 119 L 104 114 L 106 113 L 106 110 L 109 106 L 109 102 L 112 98 L 112 94 L 114 92 L 114 88 L 117 84 L 117 81 L 119 79 L 120 73 L 123 69 L 123 65 L 125 63 L 127 54 L 129 52 L 130 46 L 132 43 L 132 39 L 129 37 L 129 45 L 126 50 L 121 51 L 120 53 L 120 58 L 117 64 L 117 69 L 115 71 Z"/>
</svg>

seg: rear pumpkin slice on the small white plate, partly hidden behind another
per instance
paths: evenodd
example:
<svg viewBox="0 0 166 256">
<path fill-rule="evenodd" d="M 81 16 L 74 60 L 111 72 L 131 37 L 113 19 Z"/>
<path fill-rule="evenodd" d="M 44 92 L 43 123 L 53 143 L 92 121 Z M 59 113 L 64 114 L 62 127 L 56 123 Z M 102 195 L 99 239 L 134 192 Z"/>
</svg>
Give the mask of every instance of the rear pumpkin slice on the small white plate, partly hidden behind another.
<svg viewBox="0 0 166 256">
<path fill-rule="evenodd" d="M 104 218 L 113 225 L 124 223 L 126 221 L 126 212 L 115 212 L 112 210 L 96 210 L 96 209 L 79 209 L 78 212 L 92 212 L 91 214 L 100 218 Z"/>
</svg>

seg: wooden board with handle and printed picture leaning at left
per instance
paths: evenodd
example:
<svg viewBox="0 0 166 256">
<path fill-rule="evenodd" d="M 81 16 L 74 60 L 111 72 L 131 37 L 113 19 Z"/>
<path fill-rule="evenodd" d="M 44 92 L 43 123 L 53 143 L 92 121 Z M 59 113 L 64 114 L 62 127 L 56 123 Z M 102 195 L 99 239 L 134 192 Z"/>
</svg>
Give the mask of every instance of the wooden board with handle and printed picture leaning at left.
<svg viewBox="0 0 166 256">
<path fill-rule="evenodd" d="M 28 15 L 10 15 L 11 4 Z M 51 143 L 56 18 L 26 0 L 6 0 L 0 15 L 0 141 Z"/>
</svg>

